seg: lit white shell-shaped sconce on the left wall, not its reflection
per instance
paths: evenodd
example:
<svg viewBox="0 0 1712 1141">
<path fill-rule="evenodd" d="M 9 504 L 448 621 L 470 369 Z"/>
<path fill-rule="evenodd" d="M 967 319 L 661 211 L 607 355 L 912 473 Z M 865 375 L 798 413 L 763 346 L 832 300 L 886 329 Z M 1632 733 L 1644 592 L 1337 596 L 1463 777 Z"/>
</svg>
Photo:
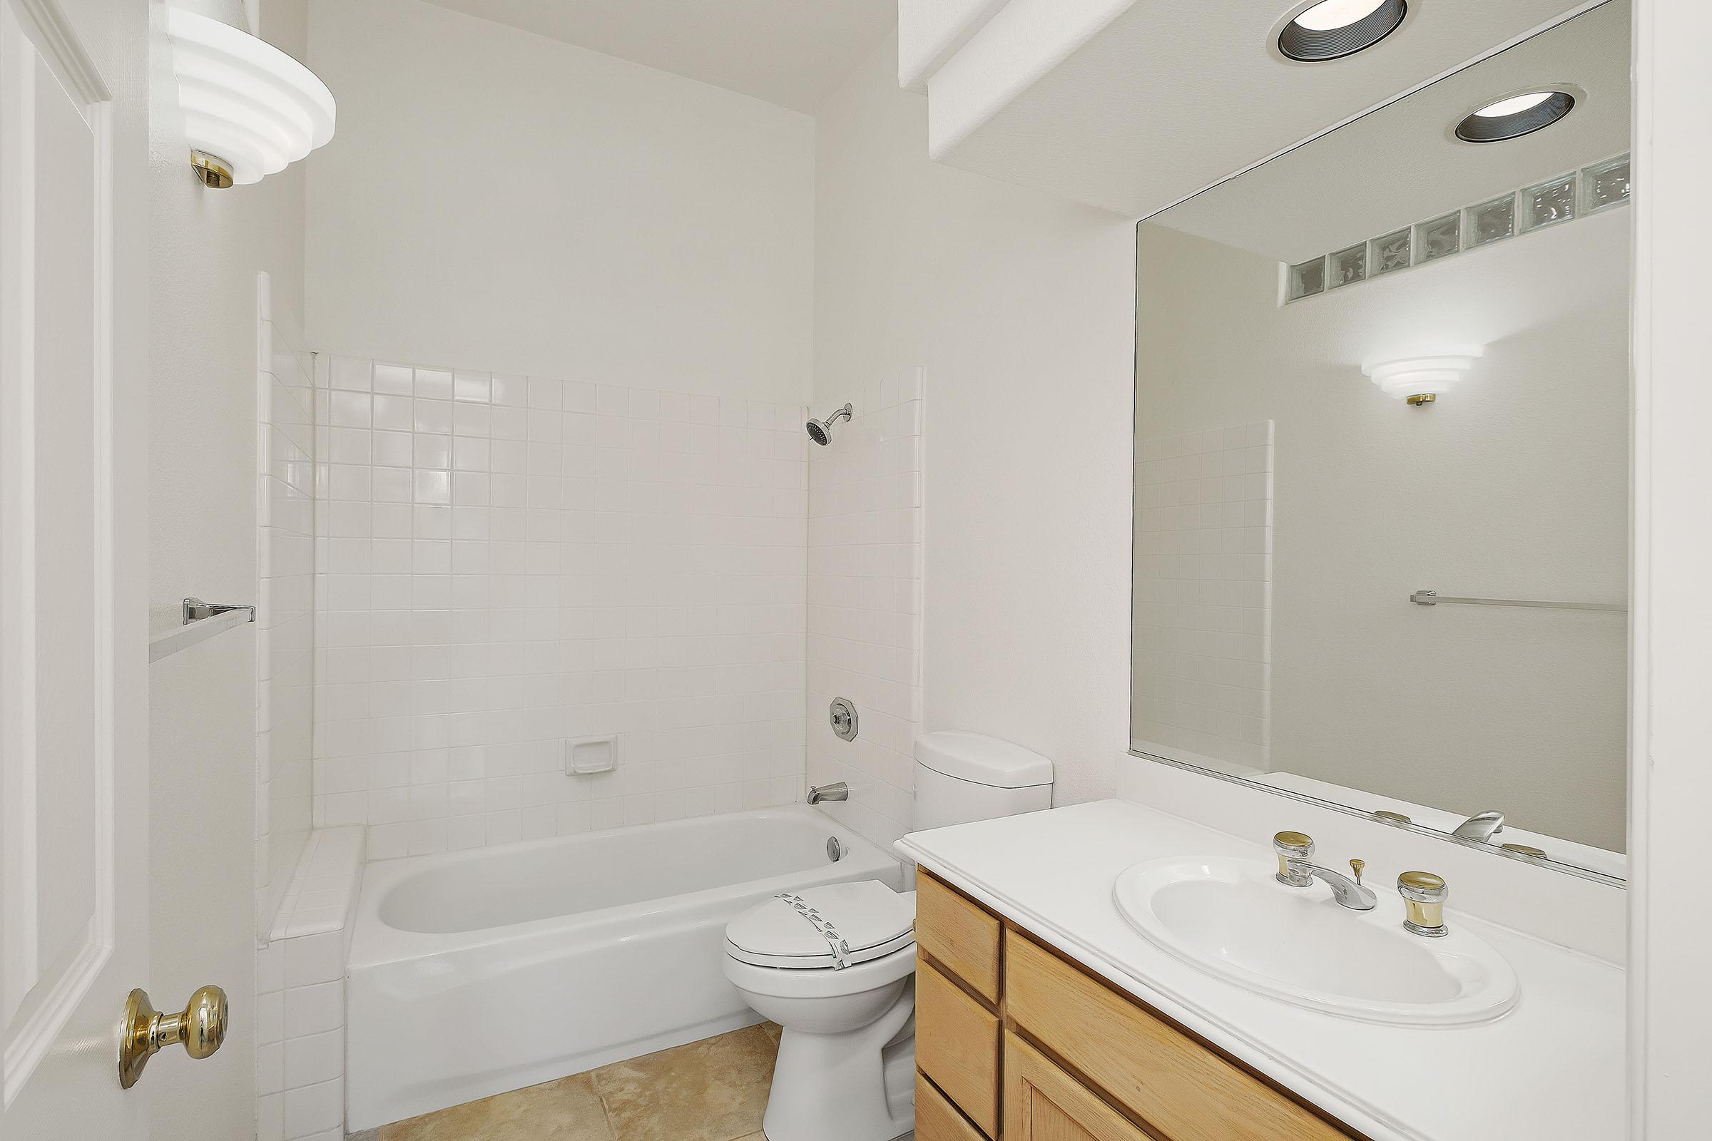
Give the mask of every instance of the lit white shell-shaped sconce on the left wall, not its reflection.
<svg viewBox="0 0 1712 1141">
<path fill-rule="evenodd" d="M 166 38 L 204 185 L 259 183 L 332 139 L 327 84 L 274 44 L 180 7 L 166 9 Z"/>
</svg>

